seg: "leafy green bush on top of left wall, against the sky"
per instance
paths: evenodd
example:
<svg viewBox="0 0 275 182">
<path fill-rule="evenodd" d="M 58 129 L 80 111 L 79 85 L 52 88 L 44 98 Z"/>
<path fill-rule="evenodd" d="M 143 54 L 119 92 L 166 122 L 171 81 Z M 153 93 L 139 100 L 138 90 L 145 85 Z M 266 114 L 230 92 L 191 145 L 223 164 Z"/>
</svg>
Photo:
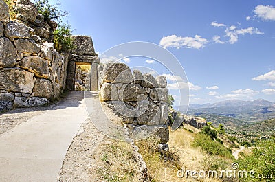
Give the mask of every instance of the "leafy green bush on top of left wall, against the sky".
<svg viewBox="0 0 275 182">
<path fill-rule="evenodd" d="M 47 22 L 50 22 L 51 20 L 62 22 L 62 19 L 68 15 L 66 11 L 58 9 L 61 6 L 60 3 L 50 5 L 49 0 L 36 0 L 34 4 L 36 5 L 38 12 L 43 14 L 44 19 Z"/>
</svg>

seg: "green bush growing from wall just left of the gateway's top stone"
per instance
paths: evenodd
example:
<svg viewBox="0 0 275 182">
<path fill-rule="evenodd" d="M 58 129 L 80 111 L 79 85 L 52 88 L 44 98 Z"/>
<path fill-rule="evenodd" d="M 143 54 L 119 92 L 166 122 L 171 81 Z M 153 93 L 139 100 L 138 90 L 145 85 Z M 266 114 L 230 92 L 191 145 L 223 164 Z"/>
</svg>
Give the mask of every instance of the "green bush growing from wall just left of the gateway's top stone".
<svg viewBox="0 0 275 182">
<path fill-rule="evenodd" d="M 74 49 L 70 25 L 59 25 L 57 30 L 54 30 L 54 48 L 58 52 L 69 52 Z"/>
</svg>

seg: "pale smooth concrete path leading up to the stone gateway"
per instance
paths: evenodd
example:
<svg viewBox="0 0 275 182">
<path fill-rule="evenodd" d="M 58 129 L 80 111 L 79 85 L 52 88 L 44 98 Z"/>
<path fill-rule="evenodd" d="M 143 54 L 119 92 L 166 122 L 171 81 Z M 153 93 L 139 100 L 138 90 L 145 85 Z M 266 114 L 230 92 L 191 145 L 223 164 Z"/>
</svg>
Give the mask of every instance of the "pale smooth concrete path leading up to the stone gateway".
<svg viewBox="0 0 275 182">
<path fill-rule="evenodd" d="M 63 159 L 88 118 L 83 91 L 0 135 L 0 181 L 58 180 Z"/>
</svg>

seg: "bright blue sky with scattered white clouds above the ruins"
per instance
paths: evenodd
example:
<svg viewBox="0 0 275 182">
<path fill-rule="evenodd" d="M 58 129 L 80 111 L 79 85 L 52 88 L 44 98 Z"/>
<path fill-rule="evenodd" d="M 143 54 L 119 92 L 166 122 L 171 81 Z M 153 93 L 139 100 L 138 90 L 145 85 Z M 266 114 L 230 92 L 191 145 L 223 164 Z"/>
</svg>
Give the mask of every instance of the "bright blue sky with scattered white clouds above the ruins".
<svg viewBox="0 0 275 182">
<path fill-rule="evenodd" d="M 275 1 L 58 2 L 69 12 L 65 21 L 74 34 L 91 36 L 96 52 L 146 41 L 174 54 L 190 82 L 191 104 L 257 98 L 275 102 Z M 144 58 L 138 65 L 134 60 L 126 62 L 158 67 L 157 61 Z M 156 71 L 169 74 L 160 67 Z"/>
</svg>

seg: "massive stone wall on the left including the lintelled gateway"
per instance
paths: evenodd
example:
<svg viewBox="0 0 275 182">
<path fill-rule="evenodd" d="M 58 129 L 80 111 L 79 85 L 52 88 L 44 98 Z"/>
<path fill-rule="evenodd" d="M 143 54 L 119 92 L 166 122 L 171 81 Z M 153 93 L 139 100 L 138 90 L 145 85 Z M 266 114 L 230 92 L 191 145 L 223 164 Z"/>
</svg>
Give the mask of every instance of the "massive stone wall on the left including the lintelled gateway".
<svg viewBox="0 0 275 182">
<path fill-rule="evenodd" d="M 58 53 L 52 43 L 57 23 L 46 23 L 28 0 L 18 0 L 14 8 L 19 14 L 10 20 L 8 5 L 0 0 L 0 112 L 58 99 L 74 89 L 76 62 L 92 65 L 97 58 L 89 36 L 72 36 L 76 49 Z"/>
</svg>

